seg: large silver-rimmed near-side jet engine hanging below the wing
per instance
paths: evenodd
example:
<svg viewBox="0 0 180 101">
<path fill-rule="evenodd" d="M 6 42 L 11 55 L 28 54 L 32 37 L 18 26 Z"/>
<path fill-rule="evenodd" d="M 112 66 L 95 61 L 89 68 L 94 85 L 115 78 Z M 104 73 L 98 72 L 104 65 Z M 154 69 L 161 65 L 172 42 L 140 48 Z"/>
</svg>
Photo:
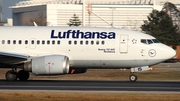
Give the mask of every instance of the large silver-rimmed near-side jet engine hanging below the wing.
<svg viewBox="0 0 180 101">
<path fill-rule="evenodd" d="M 69 58 L 63 55 L 49 55 L 33 58 L 24 64 L 24 70 L 35 75 L 59 75 L 69 73 Z"/>
</svg>

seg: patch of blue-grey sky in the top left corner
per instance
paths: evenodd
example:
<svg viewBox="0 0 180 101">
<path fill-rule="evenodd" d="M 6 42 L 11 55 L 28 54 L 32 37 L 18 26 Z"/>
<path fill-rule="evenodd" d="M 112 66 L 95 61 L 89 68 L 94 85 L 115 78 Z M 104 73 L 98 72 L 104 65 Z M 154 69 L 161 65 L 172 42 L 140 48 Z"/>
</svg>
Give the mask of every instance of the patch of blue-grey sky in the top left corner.
<svg viewBox="0 0 180 101">
<path fill-rule="evenodd" d="M 2 0 L 3 21 L 6 21 L 7 18 L 12 18 L 12 9 L 9 7 L 15 6 L 19 1 L 23 0 Z"/>
</svg>

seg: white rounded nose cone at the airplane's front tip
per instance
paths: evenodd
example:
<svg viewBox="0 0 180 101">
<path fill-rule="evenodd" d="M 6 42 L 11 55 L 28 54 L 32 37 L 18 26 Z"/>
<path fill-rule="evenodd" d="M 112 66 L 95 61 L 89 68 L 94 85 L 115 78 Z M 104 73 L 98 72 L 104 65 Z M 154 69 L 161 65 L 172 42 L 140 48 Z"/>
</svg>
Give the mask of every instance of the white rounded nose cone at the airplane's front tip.
<svg viewBox="0 0 180 101">
<path fill-rule="evenodd" d="M 162 55 L 164 59 L 171 59 L 176 55 L 176 51 L 171 47 L 164 45 Z"/>
</svg>

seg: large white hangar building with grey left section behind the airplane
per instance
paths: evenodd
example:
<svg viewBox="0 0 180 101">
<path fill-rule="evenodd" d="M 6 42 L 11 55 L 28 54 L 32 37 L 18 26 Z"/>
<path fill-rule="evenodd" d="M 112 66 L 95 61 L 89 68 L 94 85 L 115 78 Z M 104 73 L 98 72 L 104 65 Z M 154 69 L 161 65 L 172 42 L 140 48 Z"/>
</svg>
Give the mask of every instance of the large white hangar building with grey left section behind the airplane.
<svg viewBox="0 0 180 101">
<path fill-rule="evenodd" d="M 13 25 L 32 25 L 41 19 L 47 26 L 68 26 L 77 14 L 84 26 L 140 30 L 152 9 L 161 10 L 165 0 L 29 0 L 12 7 Z M 179 0 L 168 0 L 179 6 Z"/>
</svg>

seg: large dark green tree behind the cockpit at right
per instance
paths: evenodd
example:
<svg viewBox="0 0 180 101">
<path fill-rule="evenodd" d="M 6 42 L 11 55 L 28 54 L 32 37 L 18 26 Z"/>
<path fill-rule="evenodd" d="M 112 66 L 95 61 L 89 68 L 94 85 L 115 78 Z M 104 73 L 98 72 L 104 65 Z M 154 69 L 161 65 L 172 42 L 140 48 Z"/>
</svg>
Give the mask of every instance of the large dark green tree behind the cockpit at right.
<svg viewBox="0 0 180 101">
<path fill-rule="evenodd" d="M 173 3 L 166 2 L 161 11 L 152 10 L 147 19 L 141 26 L 144 33 L 166 45 L 180 45 L 180 11 Z"/>
</svg>

